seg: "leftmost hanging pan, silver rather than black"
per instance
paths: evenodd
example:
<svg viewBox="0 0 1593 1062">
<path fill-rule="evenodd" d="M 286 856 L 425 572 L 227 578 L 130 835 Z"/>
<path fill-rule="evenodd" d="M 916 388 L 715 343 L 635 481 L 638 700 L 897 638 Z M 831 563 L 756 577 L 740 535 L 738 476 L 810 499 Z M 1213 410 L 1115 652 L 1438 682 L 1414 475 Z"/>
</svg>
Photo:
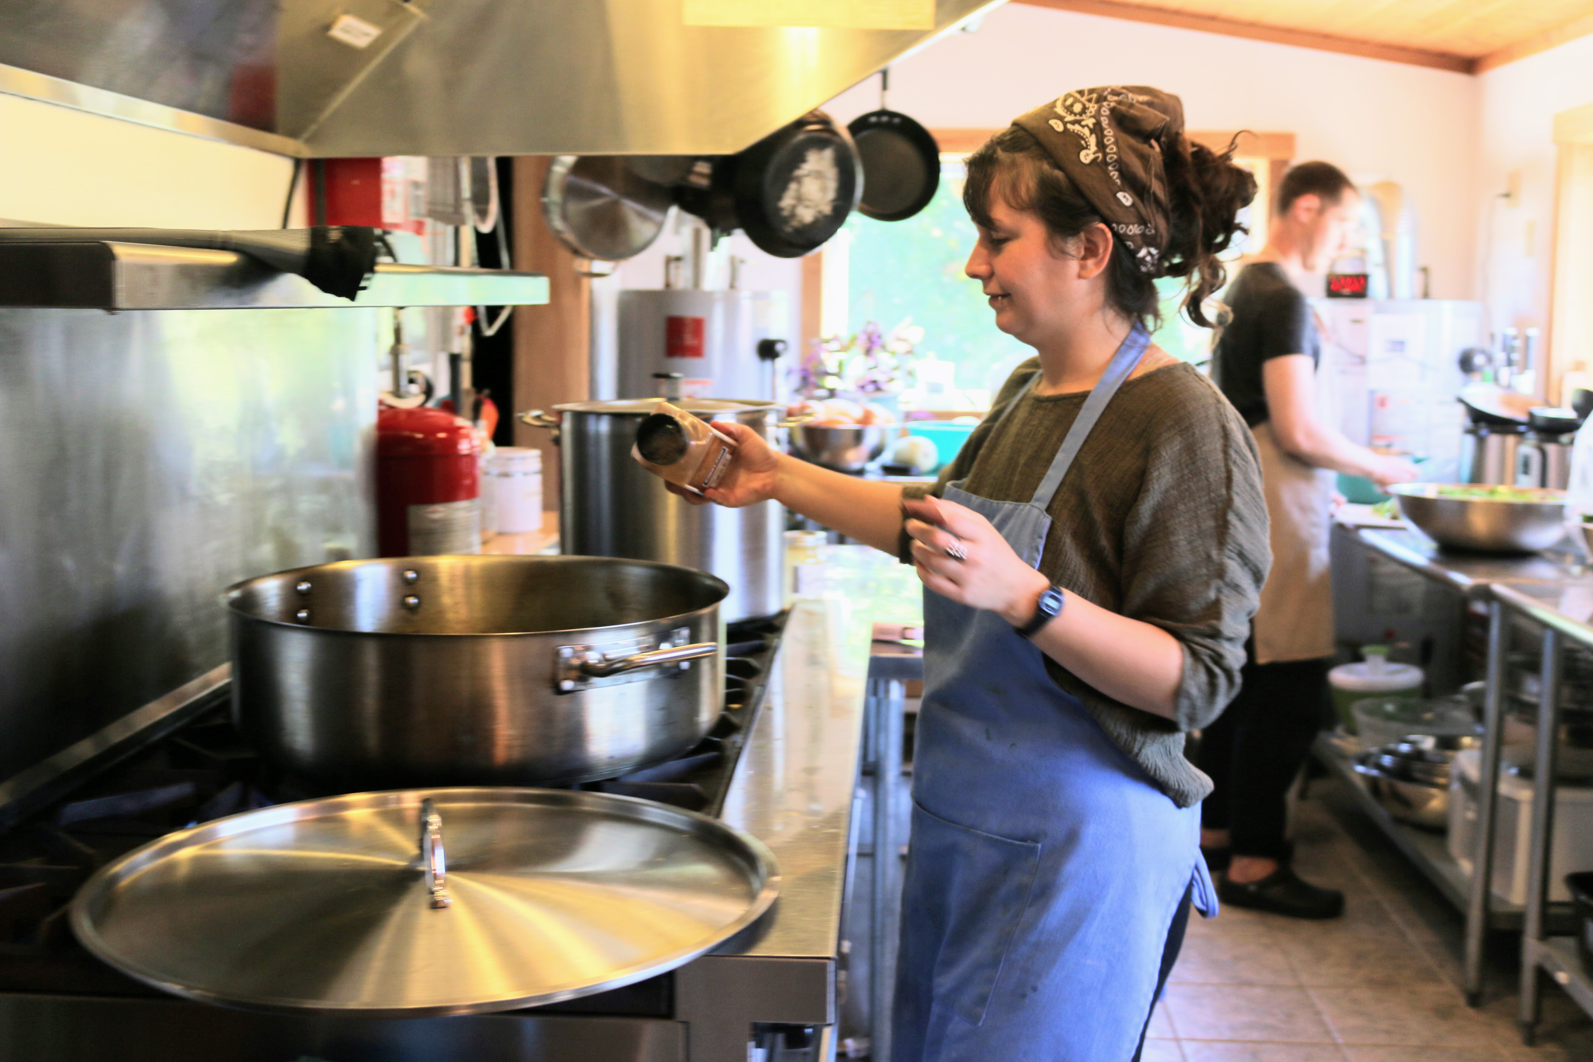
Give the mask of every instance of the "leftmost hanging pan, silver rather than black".
<svg viewBox="0 0 1593 1062">
<path fill-rule="evenodd" d="M 664 231 L 674 194 L 615 154 L 561 154 L 542 186 L 553 234 L 581 258 L 621 261 Z"/>
</svg>

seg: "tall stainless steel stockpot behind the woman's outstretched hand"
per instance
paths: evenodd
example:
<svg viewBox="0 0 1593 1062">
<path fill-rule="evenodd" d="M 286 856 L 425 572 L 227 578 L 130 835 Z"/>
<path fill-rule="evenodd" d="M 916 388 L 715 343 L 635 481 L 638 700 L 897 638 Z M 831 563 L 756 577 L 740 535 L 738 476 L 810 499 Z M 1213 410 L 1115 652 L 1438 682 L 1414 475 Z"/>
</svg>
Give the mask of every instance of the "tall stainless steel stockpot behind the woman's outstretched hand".
<svg viewBox="0 0 1593 1062">
<path fill-rule="evenodd" d="M 691 505 L 636 463 L 636 428 L 658 400 L 578 401 L 532 411 L 523 420 L 556 428 L 559 439 L 559 549 L 596 557 L 663 560 L 730 583 L 726 623 L 773 616 L 781 600 L 785 510 L 763 502 L 741 510 Z M 782 406 L 773 401 L 683 398 L 704 420 L 736 420 L 773 441 Z"/>
</svg>

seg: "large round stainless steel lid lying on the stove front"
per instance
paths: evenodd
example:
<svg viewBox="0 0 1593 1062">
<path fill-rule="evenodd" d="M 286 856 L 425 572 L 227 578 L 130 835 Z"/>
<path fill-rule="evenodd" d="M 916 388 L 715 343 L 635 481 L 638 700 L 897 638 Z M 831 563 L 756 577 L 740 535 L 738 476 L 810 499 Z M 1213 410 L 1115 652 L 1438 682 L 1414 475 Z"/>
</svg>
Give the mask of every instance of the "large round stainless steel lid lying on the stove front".
<svg viewBox="0 0 1593 1062">
<path fill-rule="evenodd" d="M 188 998 L 411 1017 L 553 1003 L 672 970 L 755 922 L 774 857 L 624 796 L 457 788 L 280 804 L 102 868 L 72 927 Z"/>
</svg>

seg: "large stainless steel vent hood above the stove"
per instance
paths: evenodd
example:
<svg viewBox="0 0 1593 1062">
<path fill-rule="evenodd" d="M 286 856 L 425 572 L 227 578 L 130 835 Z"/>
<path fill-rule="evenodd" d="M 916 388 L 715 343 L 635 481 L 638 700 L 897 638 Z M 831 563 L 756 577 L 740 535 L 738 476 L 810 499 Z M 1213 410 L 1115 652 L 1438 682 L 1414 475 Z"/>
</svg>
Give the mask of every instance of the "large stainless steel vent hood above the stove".
<svg viewBox="0 0 1593 1062">
<path fill-rule="evenodd" d="M 725 154 L 999 2 L 857 30 L 687 25 L 682 0 L 8 0 L 0 91 L 315 158 Z"/>
</svg>

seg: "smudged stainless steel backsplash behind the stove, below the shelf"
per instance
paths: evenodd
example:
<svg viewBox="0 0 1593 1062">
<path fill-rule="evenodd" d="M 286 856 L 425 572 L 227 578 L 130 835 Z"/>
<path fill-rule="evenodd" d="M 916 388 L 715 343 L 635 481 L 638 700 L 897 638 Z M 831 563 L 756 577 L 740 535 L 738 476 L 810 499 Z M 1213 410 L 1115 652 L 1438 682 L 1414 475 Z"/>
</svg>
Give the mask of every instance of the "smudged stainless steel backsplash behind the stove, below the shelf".
<svg viewBox="0 0 1593 1062">
<path fill-rule="evenodd" d="M 374 552 L 374 309 L 0 309 L 0 780 L 226 661 L 220 592 Z"/>
</svg>

